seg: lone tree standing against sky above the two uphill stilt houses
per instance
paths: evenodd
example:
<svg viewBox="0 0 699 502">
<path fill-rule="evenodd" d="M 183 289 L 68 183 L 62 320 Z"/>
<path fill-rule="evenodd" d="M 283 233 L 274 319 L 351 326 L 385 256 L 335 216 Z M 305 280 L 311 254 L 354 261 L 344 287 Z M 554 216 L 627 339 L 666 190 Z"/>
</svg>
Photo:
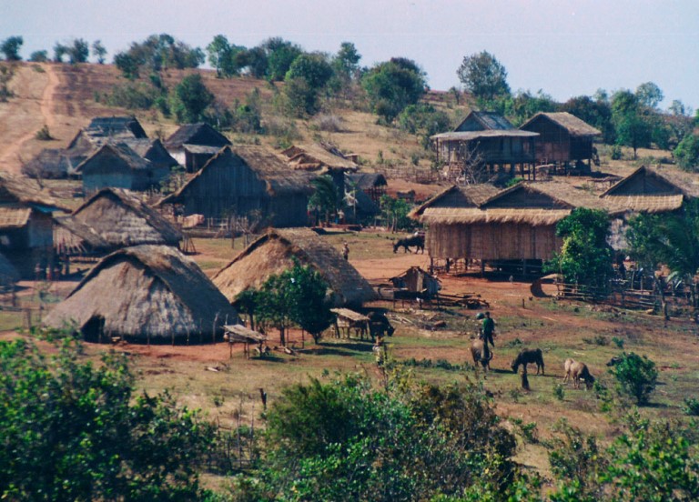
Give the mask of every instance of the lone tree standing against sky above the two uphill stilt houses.
<svg viewBox="0 0 699 502">
<path fill-rule="evenodd" d="M 490 103 L 496 97 L 510 95 L 507 84 L 507 70 L 487 51 L 465 56 L 456 71 L 461 84 L 483 103 Z"/>
</svg>

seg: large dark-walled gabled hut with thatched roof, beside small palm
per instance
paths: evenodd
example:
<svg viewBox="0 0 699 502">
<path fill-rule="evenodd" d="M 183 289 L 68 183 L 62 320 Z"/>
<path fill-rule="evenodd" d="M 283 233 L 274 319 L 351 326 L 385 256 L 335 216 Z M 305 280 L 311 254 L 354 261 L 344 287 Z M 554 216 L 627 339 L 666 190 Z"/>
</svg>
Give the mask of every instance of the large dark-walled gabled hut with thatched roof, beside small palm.
<svg viewBox="0 0 699 502">
<path fill-rule="evenodd" d="M 312 189 L 306 174 L 258 146 L 224 147 L 187 184 L 159 204 L 185 215 L 223 218 L 258 212 L 271 226 L 305 226 Z"/>
</svg>

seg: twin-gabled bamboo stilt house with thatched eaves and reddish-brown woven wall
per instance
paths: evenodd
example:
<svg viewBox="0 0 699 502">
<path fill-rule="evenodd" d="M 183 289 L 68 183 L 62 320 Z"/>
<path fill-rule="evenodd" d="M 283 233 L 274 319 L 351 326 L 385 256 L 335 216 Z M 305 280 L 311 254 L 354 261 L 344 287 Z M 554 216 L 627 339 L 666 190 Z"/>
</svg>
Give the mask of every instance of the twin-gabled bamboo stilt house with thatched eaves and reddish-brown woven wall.
<svg viewBox="0 0 699 502">
<path fill-rule="evenodd" d="M 429 226 L 425 244 L 432 258 L 540 263 L 562 246 L 555 226 L 575 207 L 605 205 L 564 183 L 520 183 L 499 192 L 492 186 L 453 186 L 410 216 Z"/>
</svg>

